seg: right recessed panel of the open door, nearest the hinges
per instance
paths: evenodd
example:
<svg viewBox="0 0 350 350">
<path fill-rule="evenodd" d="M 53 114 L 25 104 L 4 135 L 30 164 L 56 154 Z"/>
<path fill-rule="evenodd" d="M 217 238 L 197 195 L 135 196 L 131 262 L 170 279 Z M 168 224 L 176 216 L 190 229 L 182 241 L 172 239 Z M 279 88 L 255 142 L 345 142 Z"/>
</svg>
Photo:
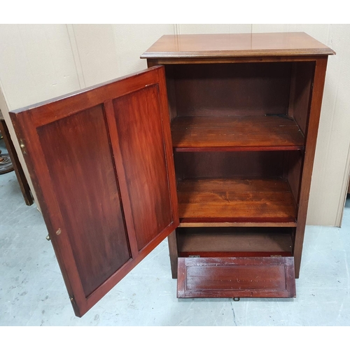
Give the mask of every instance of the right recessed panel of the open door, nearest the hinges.
<svg viewBox="0 0 350 350">
<path fill-rule="evenodd" d="M 113 100 L 137 246 L 172 223 L 158 85 Z"/>
</svg>

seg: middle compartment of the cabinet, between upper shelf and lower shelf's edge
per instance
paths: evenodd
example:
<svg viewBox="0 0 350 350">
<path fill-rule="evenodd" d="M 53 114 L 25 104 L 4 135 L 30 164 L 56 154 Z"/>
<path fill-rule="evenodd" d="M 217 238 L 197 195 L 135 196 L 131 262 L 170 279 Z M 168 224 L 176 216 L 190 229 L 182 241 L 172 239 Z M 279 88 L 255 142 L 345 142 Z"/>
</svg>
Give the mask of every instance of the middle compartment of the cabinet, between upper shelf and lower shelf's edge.
<svg viewBox="0 0 350 350">
<path fill-rule="evenodd" d="M 297 221 L 300 151 L 175 153 L 180 225 Z"/>
</svg>

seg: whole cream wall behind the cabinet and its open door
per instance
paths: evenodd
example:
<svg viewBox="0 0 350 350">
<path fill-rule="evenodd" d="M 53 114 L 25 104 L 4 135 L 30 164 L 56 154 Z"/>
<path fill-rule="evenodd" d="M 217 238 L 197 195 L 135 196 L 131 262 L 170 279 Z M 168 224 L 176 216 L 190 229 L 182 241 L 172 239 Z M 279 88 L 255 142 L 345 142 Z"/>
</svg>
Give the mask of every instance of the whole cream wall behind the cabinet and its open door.
<svg viewBox="0 0 350 350">
<path fill-rule="evenodd" d="M 139 56 L 163 34 L 264 31 L 305 31 L 337 52 L 328 61 L 307 223 L 339 225 L 350 167 L 350 25 L 0 25 L 0 108 L 9 121 L 5 104 L 17 109 L 145 69 Z"/>
</svg>

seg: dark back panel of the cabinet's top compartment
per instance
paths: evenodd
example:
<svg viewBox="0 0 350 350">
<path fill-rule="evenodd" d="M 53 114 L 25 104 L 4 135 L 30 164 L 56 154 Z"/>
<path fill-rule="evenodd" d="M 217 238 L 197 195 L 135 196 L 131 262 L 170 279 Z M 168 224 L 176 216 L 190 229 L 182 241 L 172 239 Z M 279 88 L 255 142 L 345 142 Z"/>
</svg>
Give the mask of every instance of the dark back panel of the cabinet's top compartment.
<svg viewBox="0 0 350 350">
<path fill-rule="evenodd" d="M 178 116 L 286 114 L 290 62 L 173 66 Z"/>
</svg>

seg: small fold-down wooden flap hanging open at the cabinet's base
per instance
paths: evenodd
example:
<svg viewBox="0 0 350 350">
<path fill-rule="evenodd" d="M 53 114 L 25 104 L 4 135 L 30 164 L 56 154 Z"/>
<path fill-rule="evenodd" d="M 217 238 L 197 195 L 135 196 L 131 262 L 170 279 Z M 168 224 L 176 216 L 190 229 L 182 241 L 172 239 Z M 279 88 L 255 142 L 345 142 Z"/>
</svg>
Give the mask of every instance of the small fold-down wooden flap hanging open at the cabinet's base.
<svg viewBox="0 0 350 350">
<path fill-rule="evenodd" d="M 178 297 L 295 297 L 293 257 L 179 258 Z"/>
</svg>

